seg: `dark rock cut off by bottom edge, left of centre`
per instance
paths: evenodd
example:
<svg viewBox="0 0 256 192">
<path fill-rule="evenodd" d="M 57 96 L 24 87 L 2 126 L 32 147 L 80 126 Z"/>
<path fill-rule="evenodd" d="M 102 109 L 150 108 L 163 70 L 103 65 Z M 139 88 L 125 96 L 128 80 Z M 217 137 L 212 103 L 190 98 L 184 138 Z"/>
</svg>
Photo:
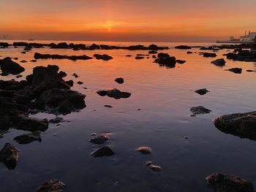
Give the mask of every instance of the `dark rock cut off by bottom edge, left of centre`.
<svg viewBox="0 0 256 192">
<path fill-rule="evenodd" d="M 36 192 L 62 192 L 65 184 L 59 180 L 48 180 L 42 183 Z"/>
</svg>

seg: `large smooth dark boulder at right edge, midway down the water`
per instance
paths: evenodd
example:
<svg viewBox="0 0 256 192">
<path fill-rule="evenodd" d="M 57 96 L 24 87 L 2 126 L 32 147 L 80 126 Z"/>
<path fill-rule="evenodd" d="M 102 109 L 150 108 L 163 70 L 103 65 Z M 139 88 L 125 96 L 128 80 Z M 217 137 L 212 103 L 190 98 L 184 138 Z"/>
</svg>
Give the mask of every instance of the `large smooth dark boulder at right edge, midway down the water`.
<svg viewBox="0 0 256 192">
<path fill-rule="evenodd" d="M 223 115 L 214 119 L 214 125 L 226 134 L 256 140 L 256 112 Z"/>
</svg>

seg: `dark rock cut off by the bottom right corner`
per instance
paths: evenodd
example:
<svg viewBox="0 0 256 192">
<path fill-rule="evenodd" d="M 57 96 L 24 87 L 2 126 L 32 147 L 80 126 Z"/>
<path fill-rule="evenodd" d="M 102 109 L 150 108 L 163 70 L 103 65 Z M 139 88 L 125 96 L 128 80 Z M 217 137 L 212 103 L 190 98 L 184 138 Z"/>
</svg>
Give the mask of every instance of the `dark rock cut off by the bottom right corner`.
<svg viewBox="0 0 256 192">
<path fill-rule="evenodd" d="M 229 174 L 211 174 L 206 177 L 206 182 L 216 192 L 254 192 L 252 183 Z"/>
</svg>

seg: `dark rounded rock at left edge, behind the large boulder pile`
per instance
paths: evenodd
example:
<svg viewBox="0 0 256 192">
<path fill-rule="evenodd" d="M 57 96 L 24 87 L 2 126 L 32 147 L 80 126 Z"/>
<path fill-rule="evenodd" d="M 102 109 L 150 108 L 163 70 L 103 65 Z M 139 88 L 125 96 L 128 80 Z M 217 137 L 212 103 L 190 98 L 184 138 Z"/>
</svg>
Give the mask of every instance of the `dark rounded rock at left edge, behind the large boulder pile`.
<svg viewBox="0 0 256 192">
<path fill-rule="evenodd" d="M 15 63 L 11 58 L 0 59 L 0 68 L 3 74 L 20 74 L 25 71 L 23 66 Z"/>
</svg>

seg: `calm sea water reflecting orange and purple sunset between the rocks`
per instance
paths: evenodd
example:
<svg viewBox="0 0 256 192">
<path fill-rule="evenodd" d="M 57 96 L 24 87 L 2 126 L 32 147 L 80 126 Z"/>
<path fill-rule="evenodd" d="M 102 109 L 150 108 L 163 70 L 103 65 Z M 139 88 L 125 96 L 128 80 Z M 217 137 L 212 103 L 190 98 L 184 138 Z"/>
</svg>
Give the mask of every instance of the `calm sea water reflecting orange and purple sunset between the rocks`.
<svg viewBox="0 0 256 192">
<path fill-rule="evenodd" d="M 39 42 L 39 41 L 36 41 Z M 78 43 L 78 42 L 74 42 Z M 91 45 L 92 42 L 79 42 Z M 136 42 L 96 42 L 108 45 L 149 45 Z M 233 112 L 250 112 L 256 109 L 255 63 L 229 61 L 225 67 L 211 64 L 213 58 L 187 50 L 175 50 L 176 45 L 213 45 L 211 43 L 156 43 L 170 47 L 163 51 L 186 60 L 176 68 L 167 69 L 153 63 L 152 58 L 135 60 L 138 53 L 148 51 L 128 50 L 51 50 L 33 49 L 21 54 L 22 47 L 0 49 L 0 58 L 18 57 L 30 61 L 34 53 L 58 53 L 66 55 L 89 55 L 106 53 L 110 61 L 38 60 L 37 63 L 21 64 L 26 68 L 23 77 L 31 74 L 34 66 L 56 64 L 67 72 L 65 80 L 75 83 L 73 90 L 86 94 L 87 107 L 80 112 L 63 117 L 70 122 L 60 126 L 50 124 L 42 134 L 42 142 L 19 145 L 14 137 L 24 131 L 11 130 L 0 139 L 0 147 L 12 142 L 20 149 L 18 165 L 8 170 L 0 164 L 0 188 L 6 192 L 35 191 L 42 182 L 58 179 L 66 183 L 64 191 L 113 191 L 113 192 L 207 192 L 205 178 L 214 172 L 225 172 L 245 177 L 256 186 L 256 142 L 240 139 L 217 130 L 212 119 Z M 217 53 L 217 58 L 227 50 Z M 125 55 L 133 55 L 127 58 Z M 242 74 L 224 69 L 243 68 Z M 71 74 L 80 75 L 75 79 Z M 118 85 L 116 77 L 124 77 Z M 14 76 L 0 77 L 10 80 Z M 22 80 L 20 78 L 19 80 Z M 84 88 L 88 89 L 84 89 Z M 118 88 L 132 93 L 129 99 L 111 99 L 95 93 L 102 89 Z M 205 96 L 193 91 L 207 88 Z M 105 104 L 113 108 L 104 107 Z M 212 112 L 208 115 L 190 117 L 190 107 L 202 105 Z M 141 109 L 138 111 L 138 109 Z M 54 118 L 39 113 L 37 118 Z M 93 158 L 90 153 L 97 145 L 89 142 L 91 133 L 110 133 L 110 145 L 116 155 Z M 189 139 L 184 139 L 188 136 Z M 135 151 L 137 147 L 151 147 L 151 155 Z M 163 167 L 162 172 L 152 172 L 146 161 Z"/>
</svg>

